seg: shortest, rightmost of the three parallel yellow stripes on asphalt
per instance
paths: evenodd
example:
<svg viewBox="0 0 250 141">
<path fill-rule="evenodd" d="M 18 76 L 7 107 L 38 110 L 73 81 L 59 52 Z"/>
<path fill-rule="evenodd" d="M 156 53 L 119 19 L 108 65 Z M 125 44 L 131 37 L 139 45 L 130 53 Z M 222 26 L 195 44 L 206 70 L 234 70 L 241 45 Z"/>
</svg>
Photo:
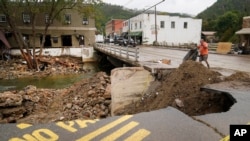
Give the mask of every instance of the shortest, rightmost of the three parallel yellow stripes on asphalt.
<svg viewBox="0 0 250 141">
<path fill-rule="evenodd" d="M 148 130 L 140 129 L 124 141 L 141 141 L 150 134 Z"/>
</svg>

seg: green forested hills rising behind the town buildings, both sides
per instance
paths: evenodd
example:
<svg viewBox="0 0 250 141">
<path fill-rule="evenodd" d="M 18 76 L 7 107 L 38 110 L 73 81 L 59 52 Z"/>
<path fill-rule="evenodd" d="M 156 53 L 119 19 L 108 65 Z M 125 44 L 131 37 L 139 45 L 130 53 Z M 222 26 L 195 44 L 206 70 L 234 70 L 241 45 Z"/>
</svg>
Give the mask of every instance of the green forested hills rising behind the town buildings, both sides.
<svg viewBox="0 0 250 141">
<path fill-rule="evenodd" d="M 142 12 L 105 3 L 98 10 L 102 16 L 96 21 L 97 29 L 104 29 L 105 23 L 111 19 L 129 19 Z M 159 13 L 188 17 L 186 14 L 179 13 Z M 238 42 L 235 32 L 241 29 L 244 16 L 250 16 L 250 0 L 217 0 L 195 18 L 202 19 L 203 31 L 216 31 L 218 41 Z"/>
</svg>

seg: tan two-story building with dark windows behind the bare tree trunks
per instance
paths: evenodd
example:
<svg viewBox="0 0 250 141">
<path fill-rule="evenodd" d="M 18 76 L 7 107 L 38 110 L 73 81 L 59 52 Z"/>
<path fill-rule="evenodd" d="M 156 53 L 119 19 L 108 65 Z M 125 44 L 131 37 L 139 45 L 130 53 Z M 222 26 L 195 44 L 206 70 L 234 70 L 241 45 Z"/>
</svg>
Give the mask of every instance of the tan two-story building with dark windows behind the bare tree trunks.
<svg viewBox="0 0 250 141">
<path fill-rule="evenodd" d="M 90 17 L 83 17 L 77 11 L 67 9 L 63 11 L 62 20 L 49 21 L 47 13 L 40 13 L 36 19 L 35 47 L 40 47 L 45 24 L 51 22 L 45 37 L 44 47 L 79 47 L 79 37 L 84 36 L 84 44 L 89 45 L 95 42 L 95 20 Z M 31 15 L 25 11 L 19 13 L 19 19 L 16 19 L 17 26 L 27 41 L 32 41 Z M 0 27 L 6 31 L 8 23 L 6 16 L 0 14 Z M 14 37 L 8 34 L 8 41 L 12 48 L 18 48 Z"/>
</svg>

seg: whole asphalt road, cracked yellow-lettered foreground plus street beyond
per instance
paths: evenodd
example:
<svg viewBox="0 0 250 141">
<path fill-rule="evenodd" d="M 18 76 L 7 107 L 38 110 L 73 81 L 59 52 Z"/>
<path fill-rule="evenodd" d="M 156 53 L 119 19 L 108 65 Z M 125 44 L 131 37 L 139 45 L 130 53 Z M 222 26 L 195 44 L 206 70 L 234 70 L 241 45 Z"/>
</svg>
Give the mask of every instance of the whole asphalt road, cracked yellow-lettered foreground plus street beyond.
<svg viewBox="0 0 250 141">
<path fill-rule="evenodd" d="M 140 48 L 140 62 L 171 59 L 178 66 L 187 50 Z M 212 68 L 250 72 L 250 56 L 210 53 Z M 75 120 L 49 124 L 0 124 L 1 141 L 227 141 L 230 125 L 250 124 L 250 84 L 230 82 L 204 86 L 227 94 L 234 105 L 222 113 L 190 117 L 175 108 L 115 116 L 102 120 Z M 250 126 L 250 125 L 249 125 Z M 250 132 L 250 131 L 249 131 Z"/>
</svg>

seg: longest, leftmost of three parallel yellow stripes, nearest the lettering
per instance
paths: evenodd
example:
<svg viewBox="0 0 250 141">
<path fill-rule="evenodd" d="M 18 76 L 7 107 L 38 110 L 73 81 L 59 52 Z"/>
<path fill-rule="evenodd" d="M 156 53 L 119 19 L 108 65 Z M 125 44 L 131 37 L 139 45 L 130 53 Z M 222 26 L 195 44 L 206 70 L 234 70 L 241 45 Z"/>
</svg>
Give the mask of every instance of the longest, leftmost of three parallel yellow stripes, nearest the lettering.
<svg viewBox="0 0 250 141">
<path fill-rule="evenodd" d="M 123 116 L 123 117 L 117 119 L 116 121 L 113 121 L 113 122 L 103 126 L 102 128 L 99 128 L 99 129 L 95 130 L 94 132 L 91 132 L 88 135 L 81 137 L 80 139 L 78 139 L 76 141 L 91 140 L 91 139 L 95 138 L 96 136 L 106 132 L 107 130 L 115 127 L 116 125 L 128 120 L 131 117 L 132 117 L 132 115 Z"/>
</svg>

